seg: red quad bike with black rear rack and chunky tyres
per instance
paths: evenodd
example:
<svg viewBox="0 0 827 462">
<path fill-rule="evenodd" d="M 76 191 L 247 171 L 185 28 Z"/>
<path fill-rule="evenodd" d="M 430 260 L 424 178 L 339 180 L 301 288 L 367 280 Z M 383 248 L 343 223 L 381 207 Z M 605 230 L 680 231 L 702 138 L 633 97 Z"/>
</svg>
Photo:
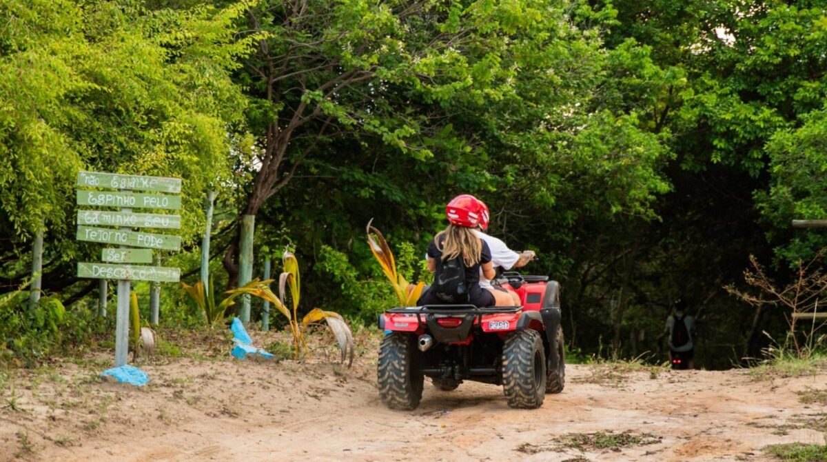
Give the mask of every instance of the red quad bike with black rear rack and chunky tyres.
<svg viewBox="0 0 827 462">
<path fill-rule="evenodd" d="M 523 306 L 407 306 L 385 311 L 379 327 L 379 396 L 414 409 L 427 376 L 443 391 L 463 380 L 502 385 L 510 407 L 534 409 L 562 392 L 566 374 L 560 284 L 505 272 L 495 280 Z"/>
</svg>

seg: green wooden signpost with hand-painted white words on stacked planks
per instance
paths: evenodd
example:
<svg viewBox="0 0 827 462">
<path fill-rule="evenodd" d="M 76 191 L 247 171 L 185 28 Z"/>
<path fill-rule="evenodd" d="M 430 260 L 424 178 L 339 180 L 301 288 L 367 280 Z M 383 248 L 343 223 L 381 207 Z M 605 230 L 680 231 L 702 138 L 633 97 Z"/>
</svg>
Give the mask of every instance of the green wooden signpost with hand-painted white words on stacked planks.
<svg viewBox="0 0 827 462">
<path fill-rule="evenodd" d="M 181 180 L 160 176 L 81 171 L 76 185 L 78 188 L 84 188 L 77 190 L 78 205 L 117 209 L 79 209 L 77 233 L 77 238 L 81 241 L 119 246 L 118 248 L 103 248 L 101 253 L 103 262 L 78 263 L 78 277 L 117 280 L 115 322 L 115 367 L 117 368 L 127 363 L 130 282 L 178 282 L 180 278 L 179 268 L 134 264 L 153 262 L 153 248 L 179 250 L 181 247 L 179 236 L 147 233 L 135 229 L 180 229 L 180 215 L 133 213 L 132 209 L 179 210 L 181 196 L 178 194 L 181 192 Z M 107 226 L 117 228 L 102 228 Z"/>
</svg>

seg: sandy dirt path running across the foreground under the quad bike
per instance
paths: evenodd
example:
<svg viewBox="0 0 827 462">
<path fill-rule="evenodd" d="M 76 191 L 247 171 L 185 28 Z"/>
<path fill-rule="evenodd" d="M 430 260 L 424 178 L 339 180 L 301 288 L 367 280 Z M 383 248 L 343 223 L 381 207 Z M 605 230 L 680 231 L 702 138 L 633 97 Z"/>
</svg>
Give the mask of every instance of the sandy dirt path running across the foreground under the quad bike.
<svg viewBox="0 0 827 462">
<path fill-rule="evenodd" d="M 96 367 L 59 364 L 0 387 L 0 460 L 769 460 L 763 446 L 825 444 L 827 430 L 824 407 L 797 394 L 827 389 L 827 373 L 621 377 L 570 365 L 565 391 L 536 411 L 463 383 L 426 384 L 422 405 L 403 412 L 379 402 L 372 359 L 174 359 L 143 366 L 142 389 L 99 383 Z"/>
</svg>

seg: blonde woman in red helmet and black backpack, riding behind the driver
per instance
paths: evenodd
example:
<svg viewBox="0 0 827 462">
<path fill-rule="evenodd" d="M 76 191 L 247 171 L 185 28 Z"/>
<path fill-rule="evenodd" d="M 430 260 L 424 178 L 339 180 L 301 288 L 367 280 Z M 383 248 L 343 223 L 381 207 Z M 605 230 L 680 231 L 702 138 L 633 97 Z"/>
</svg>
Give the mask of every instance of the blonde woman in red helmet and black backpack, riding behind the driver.
<svg viewBox="0 0 827 462">
<path fill-rule="evenodd" d="M 433 285 L 419 297 L 417 305 L 514 306 L 509 292 L 480 286 L 480 273 L 486 280 L 495 277 L 490 248 L 474 231 L 481 220 L 487 224 L 488 208 L 472 195 L 458 195 L 448 203 L 445 214 L 447 229 L 428 245 L 428 270 L 435 273 Z"/>
</svg>

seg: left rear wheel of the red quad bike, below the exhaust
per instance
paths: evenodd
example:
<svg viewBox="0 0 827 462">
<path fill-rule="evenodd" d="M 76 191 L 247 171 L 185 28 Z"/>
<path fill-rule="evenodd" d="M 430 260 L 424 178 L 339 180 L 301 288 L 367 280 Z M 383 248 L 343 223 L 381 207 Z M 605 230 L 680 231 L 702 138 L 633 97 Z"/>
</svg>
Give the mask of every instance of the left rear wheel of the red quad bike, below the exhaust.
<svg viewBox="0 0 827 462">
<path fill-rule="evenodd" d="M 414 336 L 389 334 L 379 350 L 377 378 L 379 397 L 391 409 L 411 410 L 422 399 L 424 376 L 418 371 Z"/>
</svg>

